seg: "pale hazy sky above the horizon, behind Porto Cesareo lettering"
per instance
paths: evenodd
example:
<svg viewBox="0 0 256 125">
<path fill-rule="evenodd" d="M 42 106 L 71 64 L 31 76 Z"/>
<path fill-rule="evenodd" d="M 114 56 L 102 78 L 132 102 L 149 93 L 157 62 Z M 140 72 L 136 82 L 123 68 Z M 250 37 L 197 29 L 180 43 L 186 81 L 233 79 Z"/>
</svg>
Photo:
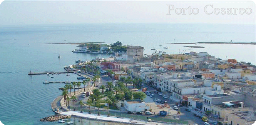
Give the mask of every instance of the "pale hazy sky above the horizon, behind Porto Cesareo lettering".
<svg viewBox="0 0 256 125">
<path fill-rule="evenodd" d="M 167 15 L 168 6 L 174 9 Z M 219 8 L 219 14 L 207 15 Z M 182 8 L 191 7 L 194 13 L 182 15 Z M 177 12 L 175 10 L 177 9 Z M 181 9 L 179 9 L 181 8 Z M 221 14 L 225 8 L 225 14 Z M 248 8 L 247 12 L 228 15 L 228 8 Z M 251 8 L 251 10 L 249 9 Z M 171 6 L 170 6 L 171 9 Z M 182 13 L 178 15 L 179 11 Z M 241 10 L 244 12 L 245 10 Z M 218 12 L 218 10 L 217 10 Z M 234 13 L 233 9 L 232 12 Z M 192 12 L 191 12 L 192 13 Z M 56 23 L 236 23 L 255 24 L 255 3 L 240 1 L 89 1 L 89 0 L 5 0 L 0 5 L 0 25 Z"/>
</svg>

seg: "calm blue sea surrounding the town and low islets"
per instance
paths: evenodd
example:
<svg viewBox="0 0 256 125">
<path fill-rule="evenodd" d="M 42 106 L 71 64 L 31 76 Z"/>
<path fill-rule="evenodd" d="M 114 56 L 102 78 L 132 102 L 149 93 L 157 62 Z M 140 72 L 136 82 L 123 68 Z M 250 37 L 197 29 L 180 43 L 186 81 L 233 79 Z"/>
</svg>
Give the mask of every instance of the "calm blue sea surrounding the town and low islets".
<svg viewBox="0 0 256 125">
<path fill-rule="evenodd" d="M 0 121 L 4 125 L 59 125 L 40 122 L 54 115 L 50 103 L 64 84 L 43 84 L 47 81 L 77 81 L 77 75 L 33 75 L 31 72 L 64 71 L 76 60 L 108 58 L 113 55 L 73 53 L 77 45 L 51 44 L 72 42 L 122 42 L 144 47 L 144 54 L 157 51 L 167 54 L 207 52 L 227 60 L 256 64 L 256 46 L 241 44 L 199 44 L 197 42 L 255 42 L 255 25 L 174 24 L 174 23 L 109 23 L 62 25 L 12 25 L 0 27 Z M 205 48 L 187 48 L 187 44 Z M 161 47 L 159 45 L 162 45 Z M 167 47 L 164 49 L 163 47 Z M 155 48 L 156 50 L 151 50 Z M 61 58 L 58 58 L 58 55 Z M 145 55 L 146 56 L 146 55 Z M 73 118 L 76 125 L 110 125 Z M 80 121 L 80 122 L 79 122 Z"/>
</svg>

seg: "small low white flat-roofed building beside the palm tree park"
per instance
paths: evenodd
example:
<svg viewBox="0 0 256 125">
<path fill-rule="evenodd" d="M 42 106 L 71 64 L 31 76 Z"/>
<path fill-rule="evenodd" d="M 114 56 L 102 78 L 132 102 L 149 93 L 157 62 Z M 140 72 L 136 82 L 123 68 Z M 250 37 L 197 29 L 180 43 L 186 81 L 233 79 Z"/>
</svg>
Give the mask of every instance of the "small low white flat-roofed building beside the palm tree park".
<svg viewBox="0 0 256 125">
<path fill-rule="evenodd" d="M 145 109 L 149 110 L 149 106 L 146 106 L 146 103 L 140 99 L 136 100 L 124 100 L 124 108 L 127 111 L 136 111 L 143 112 Z"/>
</svg>

